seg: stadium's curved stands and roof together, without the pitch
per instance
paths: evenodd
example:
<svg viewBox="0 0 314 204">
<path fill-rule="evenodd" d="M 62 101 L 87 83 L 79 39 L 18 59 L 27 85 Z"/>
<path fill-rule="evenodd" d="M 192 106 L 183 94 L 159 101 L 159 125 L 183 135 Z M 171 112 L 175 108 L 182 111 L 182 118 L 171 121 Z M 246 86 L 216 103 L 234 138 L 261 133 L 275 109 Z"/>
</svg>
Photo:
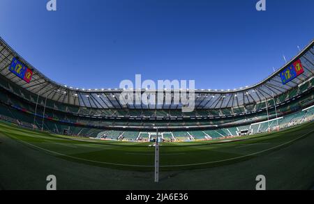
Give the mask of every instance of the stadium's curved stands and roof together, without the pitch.
<svg viewBox="0 0 314 204">
<path fill-rule="evenodd" d="M 219 139 L 256 134 L 314 118 L 314 41 L 282 68 L 253 86 L 195 90 L 195 110 L 182 104 L 121 104 L 123 89 L 79 89 L 58 84 L 33 68 L 0 38 L 0 117 L 10 123 L 57 134 L 98 139 L 149 141 L 156 130 L 165 141 Z M 30 81 L 10 70 L 17 59 Z M 299 61 L 304 72 L 283 83 L 281 73 Z M 146 90 L 133 91 L 134 98 Z M 165 95 L 180 90 L 165 90 Z M 172 98 L 172 101 L 173 98 Z"/>
</svg>

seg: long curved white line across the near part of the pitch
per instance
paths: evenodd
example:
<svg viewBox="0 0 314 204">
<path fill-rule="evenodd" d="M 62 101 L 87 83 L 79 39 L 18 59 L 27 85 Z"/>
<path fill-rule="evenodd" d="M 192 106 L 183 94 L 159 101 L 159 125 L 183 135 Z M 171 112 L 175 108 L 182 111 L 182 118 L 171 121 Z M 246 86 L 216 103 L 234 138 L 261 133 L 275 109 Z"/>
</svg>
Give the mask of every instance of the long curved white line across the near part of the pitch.
<svg viewBox="0 0 314 204">
<path fill-rule="evenodd" d="M 262 150 L 262 151 L 259 151 L 259 152 L 254 152 L 254 153 L 251 153 L 251 154 L 248 154 L 248 155 L 243 155 L 243 156 L 240 156 L 240 157 L 233 157 L 233 158 L 230 158 L 230 159 L 222 159 L 222 160 L 218 160 L 218 161 L 213 161 L 213 162 L 202 162 L 202 163 L 195 163 L 195 164 L 177 164 L 177 165 L 160 165 L 160 167 L 180 167 L 180 166 L 199 166 L 199 165 L 204 165 L 204 164 L 216 164 L 216 163 L 220 163 L 220 162 L 227 162 L 227 161 L 232 161 L 232 160 L 236 160 L 236 159 L 242 159 L 242 158 L 245 158 L 245 157 L 250 157 L 250 156 L 253 156 L 253 155 L 258 155 L 262 152 L 267 152 L 269 150 L 274 150 L 276 148 L 279 148 L 281 146 L 285 146 L 287 145 L 288 143 L 292 143 L 294 141 L 297 141 L 298 139 L 301 139 L 302 137 L 308 135 L 308 134 L 311 134 L 312 132 L 314 132 L 314 130 L 311 130 L 310 132 L 306 133 L 306 134 L 303 134 L 302 136 L 299 136 L 297 139 L 292 139 L 291 141 L 287 141 L 281 145 L 278 145 L 276 147 L 273 147 L 273 148 L 269 148 L 267 150 Z M 12 136 L 14 139 L 17 139 L 15 136 Z M 20 139 L 17 139 L 17 141 L 20 141 L 22 143 L 26 143 L 27 145 L 29 146 L 33 146 L 34 148 L 38 148 L 40 150 L 44 150 L 44 151 L 47 151 L 47 152 L 50 152 L 50 153 L 53 153 L 53 154 L 56 154 L 56 155 L 61 155 L 63 157 L 68 157 L 68 158 L 72 158 L 72 159 L 77 159 L 77 160 L 82 160 L 82 161 L 85 161 L 85 162 L 92 162 L 92 163 L 98 163 L 98 164 L 109 164 L 109 165 L 115 165 L 115 166 L 133 166 L 133 167 L 154 167 L 154 165 L 137 165 L 137 164 L 117 164 L 117 163 L 111 163 L 111 162 L 99 162 L 99 161 L 94 161 L 94 160 L 90 160 L 90 159 L 82 159 L 82 158 L 79 158 L 79 157 L 73 157 L 73 156 L 70 156 L 70 155 L 64 155 L 64 154 L 61 154 L 59 152 L 54 152 L 54 151 L 51 151 L 51 150 L 47 150 L 45 148 L 40 148 L 38 146 L 35 146 L 31 143 L 28 143 L 26 141 L 22 141 Z"/>
</svg>

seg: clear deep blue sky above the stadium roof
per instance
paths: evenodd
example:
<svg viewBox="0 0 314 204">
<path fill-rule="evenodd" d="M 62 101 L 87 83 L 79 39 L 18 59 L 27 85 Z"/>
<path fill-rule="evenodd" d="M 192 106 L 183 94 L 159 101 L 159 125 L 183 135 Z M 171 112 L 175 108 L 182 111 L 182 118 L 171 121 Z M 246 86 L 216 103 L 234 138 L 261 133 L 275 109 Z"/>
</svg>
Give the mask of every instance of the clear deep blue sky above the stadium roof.
<svg viewBox="0 0 314 204">
<path fill-rule="evenodd" d="M 40 72 L 78 88 L 194 79 L 232 89 L 266 78 L 314 38 L 313 0 L 1 0 L 0 36 Z"/>
</svg>

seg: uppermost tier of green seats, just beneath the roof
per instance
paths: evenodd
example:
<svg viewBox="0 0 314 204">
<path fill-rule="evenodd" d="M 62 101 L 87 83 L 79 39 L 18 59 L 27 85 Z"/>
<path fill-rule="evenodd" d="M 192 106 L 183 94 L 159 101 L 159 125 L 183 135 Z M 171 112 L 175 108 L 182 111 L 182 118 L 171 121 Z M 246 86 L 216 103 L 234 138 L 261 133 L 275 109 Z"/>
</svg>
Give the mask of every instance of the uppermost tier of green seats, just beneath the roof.
<svg viewBox="0 0 314 204">
<path fill-rule="evenodd" d="M 12 93 L 23 97 L 25 100 L 30 102 L 36 103 L 37 95 L 33 93 L 29 93 L 28 91 L 21 89 L 16 84 L 12 84 L 7 79 L 0 80 L 0 86 L 3 86 L 7 90 L 10 90 Z M 303 93 L 308 88 L 312 88 L 314 86 L 314 79 L 311 81 L 302 84 L 299 87 L 292 88 L 292 90 L 288 91 L 287 93 L 283 93 L 276 97 L 276 103 L 285 102 L 286 100 L 295 97 L 299 93 Z M 8 100 L 8 98 L 3 98 L 0 96 L 1 100 Z M 39 97 L 38 104 L 41 106 L 45 105 L 45 98 Z M 66 104 L 61 104 L 59 102 L 54 102 L 52 100 L 47 100 L 46 106 L 50 109 L 57 109 L 59 111 L 64 111 L 66 113 L 76 113 L 81 115 L 88 115 L 88 116 L 159 116 L 159 117 L 168 117 L 168 116 L 177 116 L 177 117 L 184 117 L 184 116 L 230 116 L 234 114 L 241 114 L 246 113 L 248 111 L 256 111 L 260 109 L 264 109 L 265 107 L 270 107 L 274 105 L 273 100 L 268 100 L 266 102 L 260 102 L 255 104 L 253 109 L 246 109 L 246 107 L 235 107 L 235 108 L 227 108 L 227 109 L 200 109 L 195 110 L 192 113 L 182 113 L 181 110 L 132 110 L 132 109 L 90 109 L 85 107 L 75 107 Z M 22 104 L 21 104 L 22 106 Z"/>
</svg>

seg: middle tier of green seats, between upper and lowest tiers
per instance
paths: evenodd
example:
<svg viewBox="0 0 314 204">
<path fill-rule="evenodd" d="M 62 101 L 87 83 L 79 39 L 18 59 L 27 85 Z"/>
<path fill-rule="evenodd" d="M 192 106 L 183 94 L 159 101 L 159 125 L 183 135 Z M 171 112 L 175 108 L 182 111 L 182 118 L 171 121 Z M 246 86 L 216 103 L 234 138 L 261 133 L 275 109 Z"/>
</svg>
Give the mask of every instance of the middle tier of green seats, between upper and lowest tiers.
<svg viewBox="0 0 314 204">
<path fill-rule="evenodd" d="M 6 100 L 10 99 L 10 103 L 17 104 L 15 107 L 20 107 L 23 111 L 28 111 L 30 113 L 33 113 L 35 111 L 36 107 L 32 107 L 31 104 L 22 103 L 21 101 L 17 100 L 15 97 L 10 97 L 8 94 L 0 92 L 0 99 Z M 290 110 L 297 110 L 304 104 L 302 103 L 308 103 L 308 102 L 314 102 L 314 93 L 311 95 L 308 95 L 307 97 L 302 98 L 301 100 L 294 100 L 293 102 L 290 102 L 289 104 L 285 104 L 283 107 L 279 107 L 277 109 L 278 114 L 285 113 L 286 111 Z M 36 113 L 37 116 L 42 117 L 43 116 L 43 107 L 37 107 Z M 5 112 L 5 111 L 4 111 Z M 269 109 L 269 117 L 276 116 L 276 112 L 274 109 Z M 21 118 L 21 120 L 24 120 L 27 123 L 33 123 L 33 116 L 27 117 L 26 113 L 24 112 L 17 112 L 15 113 L 17 116 L 13 116 L 13 118 Z M 7 115 L 12 115 L 12 113 L 7 113 Z M 237 116 L 236 118 L 225 118 L 223 120 L 216 119 L 216 120 L 114 120 L 114 119 L 106 119 L 101 120 L 97 118 L 87 118 L 82 116 L 73 116 L 72 114 L 66 114 L 63 112 L 58 111 L 52 111 L 51 109 L 45 109 L 45 117 L 48 119 L 56 120 L 56 121 L 63 121 L 66 123 L 73 123 L 73 124 L 81 124 L 81 125 L 92 125 L 97 127 L 104 127 L 108 125 L 115 125 L 115 126 L 163 126 L 163 127 L 171 127 L 171 126 L 200 126 L 200 125 L 221 125 L 225 123 L 251 123 L 256 120 L 266 120 L 267 119 L 267 111 L 262 111 L 259 113 L 251 114 L 250 116 Z M 31 118 L 29 120 L 28 118 Z M 57 130 L 55 125 L 52 125 L 52 130 Z M 75 132 L 72 131 L 72 132 Z M 76 132 L 75 132 L 76 133 Z"/>
</svg>

